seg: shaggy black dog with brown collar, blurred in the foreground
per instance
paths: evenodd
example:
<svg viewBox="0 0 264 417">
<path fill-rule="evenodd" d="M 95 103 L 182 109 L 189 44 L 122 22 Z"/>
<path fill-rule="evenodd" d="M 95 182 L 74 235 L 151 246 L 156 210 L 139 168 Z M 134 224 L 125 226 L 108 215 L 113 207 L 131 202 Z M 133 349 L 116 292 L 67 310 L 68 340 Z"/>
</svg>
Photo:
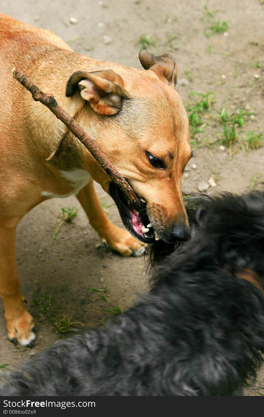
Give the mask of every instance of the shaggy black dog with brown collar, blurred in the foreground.
<svg viewBox="0 0 264 417">
<path fill-rule="evenodd" d="M 235 395 L 255 377 L 264 193 L 188 205 L 192 238 L 154 268 L 150 293 L 104 329 L 56 342 L 5 374 L 1 395 Z"/>
</svg>

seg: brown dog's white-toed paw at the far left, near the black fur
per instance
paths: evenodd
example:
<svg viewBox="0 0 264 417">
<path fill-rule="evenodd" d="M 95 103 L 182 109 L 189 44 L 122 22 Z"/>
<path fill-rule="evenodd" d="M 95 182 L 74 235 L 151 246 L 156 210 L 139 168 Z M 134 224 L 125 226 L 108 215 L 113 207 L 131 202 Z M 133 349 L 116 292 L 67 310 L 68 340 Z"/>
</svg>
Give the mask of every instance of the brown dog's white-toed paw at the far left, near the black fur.
<svg viewBox="0 0 264 417">
<path fill-rule="evenodd" d="M 34 347 L 35 325 L 27 310 L 18 319 L 7 319 L 8 339 L 24 347 Z"/>
</svg>

